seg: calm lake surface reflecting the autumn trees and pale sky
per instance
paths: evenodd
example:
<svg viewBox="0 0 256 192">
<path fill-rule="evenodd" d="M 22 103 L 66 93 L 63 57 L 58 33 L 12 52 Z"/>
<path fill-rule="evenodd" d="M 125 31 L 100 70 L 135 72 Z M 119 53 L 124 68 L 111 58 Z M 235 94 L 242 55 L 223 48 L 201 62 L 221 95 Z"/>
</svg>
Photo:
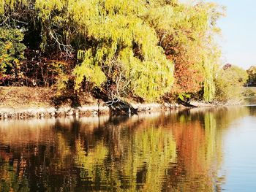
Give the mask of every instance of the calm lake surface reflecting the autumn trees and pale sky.
<svg viewBox="0 0 256 192">
<path fill-rule="evenodd" d="M 256 106 L 0 120 L 0 191 L 255 191 Z"/>
</svg>

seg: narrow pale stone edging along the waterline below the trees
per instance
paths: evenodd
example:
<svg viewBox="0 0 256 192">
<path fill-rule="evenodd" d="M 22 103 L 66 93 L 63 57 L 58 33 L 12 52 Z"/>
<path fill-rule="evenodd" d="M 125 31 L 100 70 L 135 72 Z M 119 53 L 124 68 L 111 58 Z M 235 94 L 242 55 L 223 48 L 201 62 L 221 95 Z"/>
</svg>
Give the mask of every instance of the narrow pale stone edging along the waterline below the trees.
<svg viewBox="0 0 256 192">
<path fill-rule="evenodd" d="M 217 107 L 217 104 L 206 104 L 199 101 L 192 101 L 191 104 L 198 107 Z M 138 109 L 138 113 L 164 112 L 168 110 L 189 109 L 181 104 L 159 104 L 159 103 L 133 103 L 132 107 Z M 97 115 L 111 115 L 110 109 L 105 104 L 99 106 L 83 105 L 82 107 L 0 107 L 0 120 L 4 119 L 27 119 L 27 118 L 60 118 L 60 117 L 94 117 Z M 129 114 L 125 114 L 129 115 Z"/>
</svg>

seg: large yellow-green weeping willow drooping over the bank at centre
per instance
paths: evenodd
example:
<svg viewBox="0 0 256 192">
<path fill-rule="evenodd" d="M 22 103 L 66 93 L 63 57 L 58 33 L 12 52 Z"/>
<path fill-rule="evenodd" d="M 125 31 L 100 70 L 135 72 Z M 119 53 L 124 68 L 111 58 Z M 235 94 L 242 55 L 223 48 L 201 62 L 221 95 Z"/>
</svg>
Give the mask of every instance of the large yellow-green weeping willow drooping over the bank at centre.
<svg viewBox="0 0 256 192">
<path fill-rule="evenodd" d="M 36 1 L 36 7 L 46 26 L 56 10 L 65 12 L 54 15 L 54 20 L 72 20 L 75 35 L 79 34 L 82 45 L 75 45 L 80 61 L 73 71 L 75 89 L 84 80 L 99 88 L 113 82 L 113 98 L 132 92 L 148 100 L 170 90 L 173 64 L 158 46 L 154 28 L 143 20 L 146 1 Z M 65 29 L 69 39 L 75 37 Z"/>
</svg>

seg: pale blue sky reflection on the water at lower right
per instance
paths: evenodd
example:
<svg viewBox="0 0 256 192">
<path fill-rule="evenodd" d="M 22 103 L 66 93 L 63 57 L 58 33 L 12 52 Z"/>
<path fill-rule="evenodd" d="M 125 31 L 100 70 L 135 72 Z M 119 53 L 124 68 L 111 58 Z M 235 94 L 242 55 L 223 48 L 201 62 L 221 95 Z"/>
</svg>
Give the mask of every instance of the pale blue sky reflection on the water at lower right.
<svg viewBox="0 0 256 192">
<path fill-rule="evenodd" d="M 256 117 L 234 122 L 225 131 L 224 162 L 225 191 L 256 190 Z"/>
</svg>

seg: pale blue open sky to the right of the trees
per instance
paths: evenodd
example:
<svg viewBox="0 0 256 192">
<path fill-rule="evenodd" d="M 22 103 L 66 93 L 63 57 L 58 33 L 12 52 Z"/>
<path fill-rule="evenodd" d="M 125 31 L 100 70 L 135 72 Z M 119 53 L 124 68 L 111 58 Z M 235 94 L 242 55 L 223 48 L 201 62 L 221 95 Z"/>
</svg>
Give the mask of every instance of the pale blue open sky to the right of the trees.
<svg viewBox="0 0 256 192">
<path fill-rule="evenodd" d="M 192 0 L 180 0 L 192 1 Z M 226 17 L 219 20 L 222 28 L 223 62 L 236 64 L 244 69 L 256 66 L 256 1 L 207 0 L 227 8 Z"/>
</svg>

